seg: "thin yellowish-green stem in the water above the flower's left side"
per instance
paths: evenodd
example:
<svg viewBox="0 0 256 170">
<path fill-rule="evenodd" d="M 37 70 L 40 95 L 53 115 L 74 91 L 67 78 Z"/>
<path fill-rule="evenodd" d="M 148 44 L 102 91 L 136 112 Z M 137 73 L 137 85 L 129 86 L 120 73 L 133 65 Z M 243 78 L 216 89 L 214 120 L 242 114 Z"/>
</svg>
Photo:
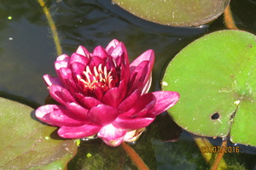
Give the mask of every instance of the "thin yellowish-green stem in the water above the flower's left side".
<svg viewBox="0 0 256 170">
<path fill-rule="evenodd" d="M 61 42 L 60 42 L 58 32 L 57 32 L 57 29 L 55 26 L 55 22 L 54 22 L 54 20 L 52 20 L 51 14 L 49 13 L 49 9 L 46 7 L 46 5 L 44 3 L 44 0 L 38 0 L 38 3 L 40 3 L 41 7 L 43 8 L 44 14 L 49 22 L 50 31 L 52 33 L 52 37 L 54 38 L 57 54 L 61 55 L 62 54 Z"/>
</svg>

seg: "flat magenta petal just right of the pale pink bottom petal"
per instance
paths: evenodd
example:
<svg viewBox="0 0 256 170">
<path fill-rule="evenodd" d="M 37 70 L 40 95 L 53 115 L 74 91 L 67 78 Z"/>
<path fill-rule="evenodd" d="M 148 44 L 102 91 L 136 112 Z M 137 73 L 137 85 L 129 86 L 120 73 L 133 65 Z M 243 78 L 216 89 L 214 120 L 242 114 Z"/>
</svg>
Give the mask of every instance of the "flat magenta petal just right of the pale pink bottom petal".
<svg viewBox="0 0 256 170">
<path fill-rule="evenodd" d="M 138 117 L 138 118 L 118 117 L 113 122 L 113 126 L 124 128 L 124 129 L 139 129 L 139 128 L 147 127 L 153 121 L 154 121 L 154 117 Z"/>
</svg>

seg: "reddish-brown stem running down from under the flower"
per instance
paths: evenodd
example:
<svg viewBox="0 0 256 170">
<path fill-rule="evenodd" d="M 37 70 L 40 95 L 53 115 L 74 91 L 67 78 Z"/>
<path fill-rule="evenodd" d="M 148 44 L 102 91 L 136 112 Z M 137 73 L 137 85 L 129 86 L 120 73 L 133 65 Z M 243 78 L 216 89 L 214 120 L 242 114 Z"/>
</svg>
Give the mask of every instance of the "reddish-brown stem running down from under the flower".
<svg viewBox="0 0 256 170">
<path fill-rule="evenodd" d="M 130 156 L 131 161 L 134 162 L 139 170 L 149 170 L 143 159 L 137 154 L 135 150 L 131 148 L 129 144 L 125 144 L 125 142 L 123 142 L 121 145 L 125 150 L 126 154 Z"/>
</svg>

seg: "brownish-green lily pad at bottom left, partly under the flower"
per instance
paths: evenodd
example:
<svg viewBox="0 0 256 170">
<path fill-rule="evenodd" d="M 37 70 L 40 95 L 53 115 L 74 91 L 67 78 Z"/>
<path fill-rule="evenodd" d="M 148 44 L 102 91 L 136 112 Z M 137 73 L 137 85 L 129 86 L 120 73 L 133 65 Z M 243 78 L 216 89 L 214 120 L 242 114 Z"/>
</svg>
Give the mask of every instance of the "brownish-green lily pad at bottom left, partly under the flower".
<svg viewBox="0 0 256 170">
<path fill-rule="evenodd" d="M 38 122 L 31 107 L 9 99 L 0 98 L 0 128 L 0 169 L 64 169 L 77 151 L 56 127 Z"/>
</svg>

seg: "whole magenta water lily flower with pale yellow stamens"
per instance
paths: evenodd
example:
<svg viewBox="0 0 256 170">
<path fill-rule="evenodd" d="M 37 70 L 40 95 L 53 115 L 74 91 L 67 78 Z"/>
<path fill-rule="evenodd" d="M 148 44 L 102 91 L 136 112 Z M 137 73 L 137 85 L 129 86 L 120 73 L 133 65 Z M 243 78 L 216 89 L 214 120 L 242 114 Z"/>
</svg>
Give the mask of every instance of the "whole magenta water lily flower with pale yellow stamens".
<svg viewBox="0 0 256 170">
<path fill-rule="evenodd" d="M 148 93 L 153 65 L 153 50 L 130 64 L 124 43 L 115 39 L 92 54 L 79 46 L 71 57 L 56 59 L 58 77 L 44 75 L 50 96 L 60 105 L 43 105 L 36 116 L 60 127 L 62 138 L 96 135 L 112 146 L 135 140 L 179 99 L 177 92 Z"/>
</svg>

